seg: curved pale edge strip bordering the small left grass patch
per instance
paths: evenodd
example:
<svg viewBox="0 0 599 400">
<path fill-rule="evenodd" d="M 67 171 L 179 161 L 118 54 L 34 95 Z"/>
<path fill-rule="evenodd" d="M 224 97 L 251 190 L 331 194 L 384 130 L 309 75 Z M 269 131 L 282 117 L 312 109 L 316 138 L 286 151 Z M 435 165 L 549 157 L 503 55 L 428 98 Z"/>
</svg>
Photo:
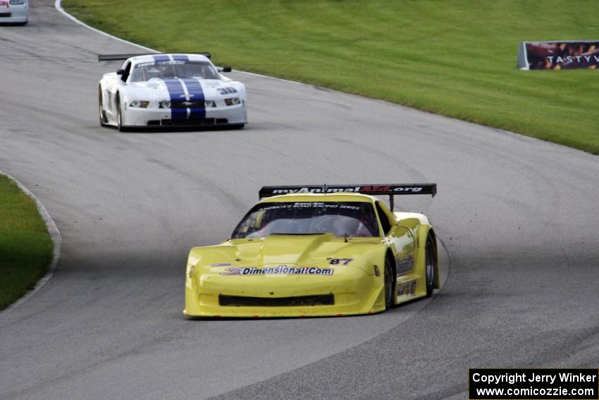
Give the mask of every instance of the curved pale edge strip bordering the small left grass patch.
<svg viewBox="0 0 599 400">
<path fill-rule="evenodd" d="M 50 213 L 48 212 L 48 210 L 46 210 L 46 207 L 44 207 L 42 202 L 39 201 L 39 199 L 37 197 L 35 197 L 35 195 L 31 192 L 31 190 L 27 189 L 23 185 L 23 183 L 20 183 L 19 181 L 17 181 L 15 178 L 13 178 L 13 176 L 10 176 L 3 171 L 0 171 L 0 174 L 7 176 L 9 179 L 11 179 L 11 181 L 16 183 L 18 188 L 20 190 L 22 190 L 23 193 L 25 193 L 30 198 L 32 198 L 32 200 L 35 202 L 35 205 L 37 207 L 37 212 L 39 212 L 39 215 L 44 220 L 44 224 L 46 224 L 46 229 L 48 230 L 48 234 L 50 235 L 50 239 L 52 241 L 52 260 L 48 267 L 48 272 L 44 275 L 44 277 L 42 277 L 42 279 L 39 279 L 39 281 L 37 281 L 37 284 L 35 284 L 35 287 L 32 290 L 27 291 L 27 293 L 25 293 L 25 295 L 21 296 L 17 301 L 12 303 L 11 305 L 8 305 L 8 307 L 5 308 L 4 310 L 0 311 L 0 315 L 5 315 L 7 313 L 10 313 L 12 310 L 17 308 L 19 305 L 25 303 L 25 301 L 29 300 L 29 298 L 31 296 L 33 296 L 37 291 L 39 291 L 39 289 L 42 289 L 42 286 L 44 286 L 47 283 L 47 281 L 50 280 L 50 278 L 54 274 L 54 271 L 56 271 L 56 266 L 58 265 L 58 260 L 60 260 L 60 257 L 61 257 L 61 246 L 63 243 L 63 239 L 62 239 L 60 231 L 58 231 L 58 228 L 56 227 L 56 224 L 54 223 L 54 219 L 52 219 L 52 217 L 50 217 Z"/>
</svg>

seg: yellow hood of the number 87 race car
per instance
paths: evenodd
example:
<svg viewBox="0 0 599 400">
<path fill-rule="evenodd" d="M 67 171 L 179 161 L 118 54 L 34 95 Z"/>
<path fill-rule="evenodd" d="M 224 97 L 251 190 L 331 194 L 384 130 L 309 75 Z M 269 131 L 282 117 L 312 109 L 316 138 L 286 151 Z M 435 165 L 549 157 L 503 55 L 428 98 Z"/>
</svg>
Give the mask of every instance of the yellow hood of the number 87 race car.
<svg viewBox="0 0 599 400">
<path fill-rule="evenodd" d="M 371 272 L 371 260 L 376 260 L 373 253 L 382 248 L 381 238 L 349 238 L 346 242 L 333 234 L 271 235 L 193 248 L 190 262 L 197 267 L 324 267 L 338 258 L 350 260 L 347 265 Z"/>
</svg>

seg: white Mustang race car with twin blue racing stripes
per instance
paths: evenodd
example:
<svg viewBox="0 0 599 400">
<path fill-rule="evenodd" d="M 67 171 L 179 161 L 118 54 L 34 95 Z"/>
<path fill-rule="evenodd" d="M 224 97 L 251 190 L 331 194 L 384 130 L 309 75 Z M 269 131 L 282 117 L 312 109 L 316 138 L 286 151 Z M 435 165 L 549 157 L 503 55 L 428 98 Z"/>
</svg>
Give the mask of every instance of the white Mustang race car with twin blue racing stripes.
<svg viewBox="0 0 599 400">
<path fill-rule="evenodd" d="M 111 54 L 125 60 L 98 87 L 101 126 L 128 128 L 230 126 L 247 123 L 245 85 L 221 75 L 209 53 Z"/>
</svg>

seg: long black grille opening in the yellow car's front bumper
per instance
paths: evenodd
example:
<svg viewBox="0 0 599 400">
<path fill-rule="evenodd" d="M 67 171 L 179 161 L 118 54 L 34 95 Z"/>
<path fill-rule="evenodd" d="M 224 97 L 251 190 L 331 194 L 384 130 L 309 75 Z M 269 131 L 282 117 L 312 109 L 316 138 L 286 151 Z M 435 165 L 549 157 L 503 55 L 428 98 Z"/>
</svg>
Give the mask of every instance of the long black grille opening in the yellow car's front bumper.
<svg viewBox="0 0 599 400">
<path fill-rule="evenodd" d="M 247 297 L 247 296 L 218 296 L 218 304 L 237 307 L 298 307 L 305 305 L 334 305 L 335 296 L 319 294 L 316 296 L 293 297 Z"/>
</svg>

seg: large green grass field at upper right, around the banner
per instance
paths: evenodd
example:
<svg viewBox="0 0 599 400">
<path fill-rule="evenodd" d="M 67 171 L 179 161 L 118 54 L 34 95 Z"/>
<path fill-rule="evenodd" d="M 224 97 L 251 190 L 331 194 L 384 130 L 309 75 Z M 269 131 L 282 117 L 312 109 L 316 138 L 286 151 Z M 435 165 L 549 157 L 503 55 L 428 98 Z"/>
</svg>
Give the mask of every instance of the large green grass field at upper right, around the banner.
<svg viewBox="0 0 599 400">
<path fill-rule="evenodd" d="M 519 71 L 527 40 L 599 40 L 590 1 L 64 0 L 162 51 L 385 99 L 599 154 L 599 71 Z"/>
</svg>

